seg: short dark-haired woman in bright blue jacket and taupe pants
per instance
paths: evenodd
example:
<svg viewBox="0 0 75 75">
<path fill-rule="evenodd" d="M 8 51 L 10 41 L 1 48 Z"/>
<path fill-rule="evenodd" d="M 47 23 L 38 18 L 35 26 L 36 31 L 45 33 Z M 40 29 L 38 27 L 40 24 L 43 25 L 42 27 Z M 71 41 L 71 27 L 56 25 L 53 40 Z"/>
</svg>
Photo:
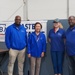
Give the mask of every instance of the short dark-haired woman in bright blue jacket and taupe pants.
<svg viewBox="0 0 75 75">
<path fill-rule="evenodd" d="M 39 75 L 41 58 L 46 52 L 46 38 L 41 29 L 41 23 L 35 23 L 35 31 L 29 34 L 28 38 L 28 57 L 31 60 L 30 75 Z"/>
</svg>

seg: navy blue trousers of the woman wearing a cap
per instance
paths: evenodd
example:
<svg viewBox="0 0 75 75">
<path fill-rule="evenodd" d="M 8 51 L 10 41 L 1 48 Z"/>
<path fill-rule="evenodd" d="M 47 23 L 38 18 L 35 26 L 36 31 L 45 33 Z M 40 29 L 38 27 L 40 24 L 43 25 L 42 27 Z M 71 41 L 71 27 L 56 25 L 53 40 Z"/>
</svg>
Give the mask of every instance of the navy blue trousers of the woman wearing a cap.
<svg viewBox="0 0 75 75">
<path fill-rule="evenodd" d="M 54 74 L 62 74 L 64 52 L 51 51 L 51 58 L 52 58 L 52 63 L 54 68 Z"/>
</svg>

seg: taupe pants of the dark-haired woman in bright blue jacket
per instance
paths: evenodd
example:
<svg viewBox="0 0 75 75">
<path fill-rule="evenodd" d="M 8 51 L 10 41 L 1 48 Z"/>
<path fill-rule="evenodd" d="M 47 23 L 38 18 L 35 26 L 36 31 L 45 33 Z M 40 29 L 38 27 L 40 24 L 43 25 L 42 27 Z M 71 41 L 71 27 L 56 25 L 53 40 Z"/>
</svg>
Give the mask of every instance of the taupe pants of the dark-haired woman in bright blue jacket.
<svg viewBox="0 0 75 75">
<path fill-rule="evenodd" d="M 31 60 L 30 75 L 39 75 L 41 58 L 31 57 L 30 60 Z"/>
</svg>

